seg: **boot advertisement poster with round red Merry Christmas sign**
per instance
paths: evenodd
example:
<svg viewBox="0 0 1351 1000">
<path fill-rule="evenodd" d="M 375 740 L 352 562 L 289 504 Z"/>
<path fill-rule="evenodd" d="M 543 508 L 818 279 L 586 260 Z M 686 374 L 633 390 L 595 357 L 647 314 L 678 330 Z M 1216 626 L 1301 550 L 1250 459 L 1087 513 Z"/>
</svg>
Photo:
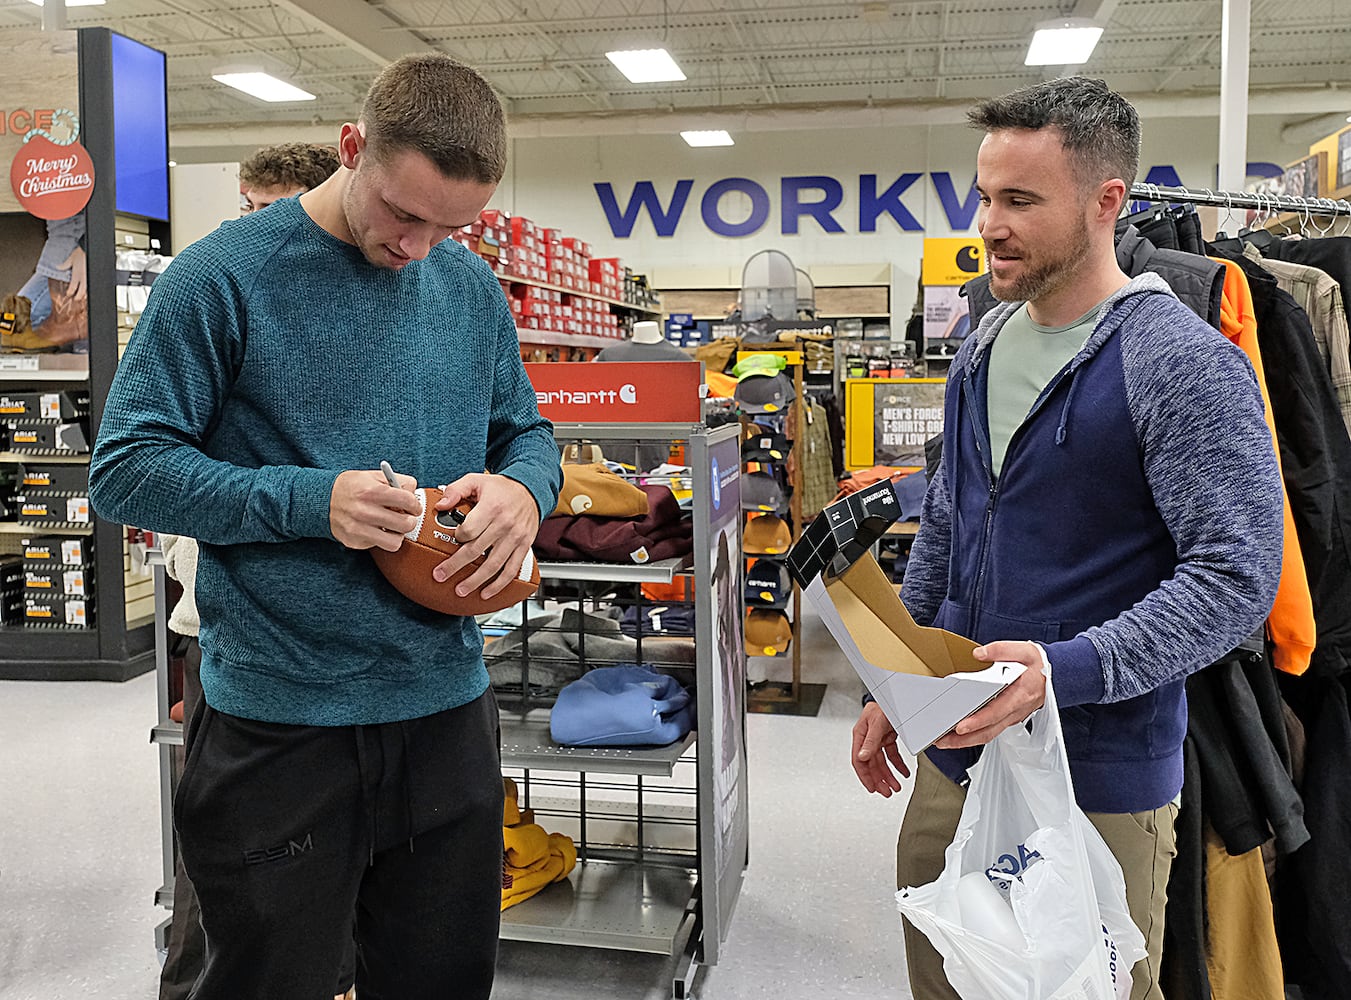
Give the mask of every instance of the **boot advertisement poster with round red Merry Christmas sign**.
<svg viewBox="0 0 1351 1000">
<path fill-rule="evenodd" d="M 0 43 L 0 351 L 89 347 L 84 207 L 93 164 L 80 145 L 74 31 L 15 31 Z"/>
</svg>

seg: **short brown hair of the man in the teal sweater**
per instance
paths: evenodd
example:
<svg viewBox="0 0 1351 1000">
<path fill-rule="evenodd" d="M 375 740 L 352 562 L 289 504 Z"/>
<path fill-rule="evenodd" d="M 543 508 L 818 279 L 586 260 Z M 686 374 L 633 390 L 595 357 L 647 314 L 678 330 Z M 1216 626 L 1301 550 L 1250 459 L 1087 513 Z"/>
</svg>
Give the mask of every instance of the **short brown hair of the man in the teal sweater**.
<svg viewBox="0 0 1351 1000">
<path fill-rule="evenodd" d="M 507 116 L 478 73 L 438 53 L 404 55 L 376 77 L 361 107 L 366 143 L 426 155 L 451 180 L 497 184 L 507 172 Z"/>
</svg>

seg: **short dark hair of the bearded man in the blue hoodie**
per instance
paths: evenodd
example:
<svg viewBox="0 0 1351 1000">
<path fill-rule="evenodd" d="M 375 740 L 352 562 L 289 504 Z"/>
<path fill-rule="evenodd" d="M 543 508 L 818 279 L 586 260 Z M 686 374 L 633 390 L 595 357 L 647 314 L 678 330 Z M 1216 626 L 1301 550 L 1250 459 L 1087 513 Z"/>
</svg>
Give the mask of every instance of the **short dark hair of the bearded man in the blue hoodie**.
<svg viewBox="0 0 1351 1000">
<path fill-rule="evenodd" d="M 1061 77 L 1024 86 L 977 104 L 966 120 L 986 132 L 1055 126 L 1089 184 L 1120 177 L 1129 188 L 1140 166 L 1140 116 L 1101 80 Z"/>
</svg>

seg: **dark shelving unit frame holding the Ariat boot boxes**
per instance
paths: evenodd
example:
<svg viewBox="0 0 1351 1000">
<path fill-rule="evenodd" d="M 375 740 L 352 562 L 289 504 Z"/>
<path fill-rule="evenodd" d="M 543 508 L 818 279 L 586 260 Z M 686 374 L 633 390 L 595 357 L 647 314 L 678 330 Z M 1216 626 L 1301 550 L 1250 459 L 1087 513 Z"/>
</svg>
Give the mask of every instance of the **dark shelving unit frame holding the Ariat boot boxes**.
<svg viewBox="0 0 1351 1000">
<path fill-rule="evenodd" d="M 127 220 L 115 211 L 111 32 L 80 28 L 76 34 L 81 141 L 99 178 L 85 209 L 89 353 L 0 355 L 0 391 L 88 391 L 92 445 L 119 357 L 113 247 L 127 222 L 142 227 L 146 223 Z M 41 76 L 41 65 L 34 65 L 31 73 Z M 168 239 L 168 234 L 163 235 Z M 7 466 L 88 461 L 88 454 L 0 451 L 0 465 Z M 73 527 L 11 523 L 0 527 L 0 553 L 20 551 L 24 538 L 43 535 L 92 539 L 89 574 L 93 577 L 95 618 L 88 627 L 0 627 L 0 680 L 126 680 L 150 670 L 154 665 L 153 582 L 143 568 L 134 564 L 126 528 L 99 518 L 92 518 L 88 526 Z"/>
</svg>

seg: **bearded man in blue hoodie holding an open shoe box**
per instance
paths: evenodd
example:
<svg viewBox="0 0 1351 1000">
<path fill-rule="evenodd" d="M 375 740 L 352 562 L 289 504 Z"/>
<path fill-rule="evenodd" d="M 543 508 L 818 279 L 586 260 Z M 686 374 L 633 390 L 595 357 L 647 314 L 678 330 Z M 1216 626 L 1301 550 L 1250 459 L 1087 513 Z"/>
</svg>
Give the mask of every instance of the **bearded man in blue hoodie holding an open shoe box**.
<svg viewBox="0 0 1351 1000">
<path fill-rule="evenodd" d="M 920 757 L 897 882 L 938 877 L 967 769 L 1044 701 L 1048 664 L 1075 796 L 1121 862 L 1148 946 L 1132 999 L 1159 1000 L 1183 682 L 1271 608 L 1275 453 L 1243 353 L 1162 278 L 1116 264 L 1135 108 L 1071 77 L 969 119 L 985 132 L 977 224 L 1001 305 L 952 361 L 902 599 L 917 622 L 985 643 L 977 658 L 1028 670 Z M 884 796 L 909 776 L 875 704 L 854 727 L 852 762 Z M 905 947 L 916 1000 L 955 997 L 909 924 Z"/>
</svg>

